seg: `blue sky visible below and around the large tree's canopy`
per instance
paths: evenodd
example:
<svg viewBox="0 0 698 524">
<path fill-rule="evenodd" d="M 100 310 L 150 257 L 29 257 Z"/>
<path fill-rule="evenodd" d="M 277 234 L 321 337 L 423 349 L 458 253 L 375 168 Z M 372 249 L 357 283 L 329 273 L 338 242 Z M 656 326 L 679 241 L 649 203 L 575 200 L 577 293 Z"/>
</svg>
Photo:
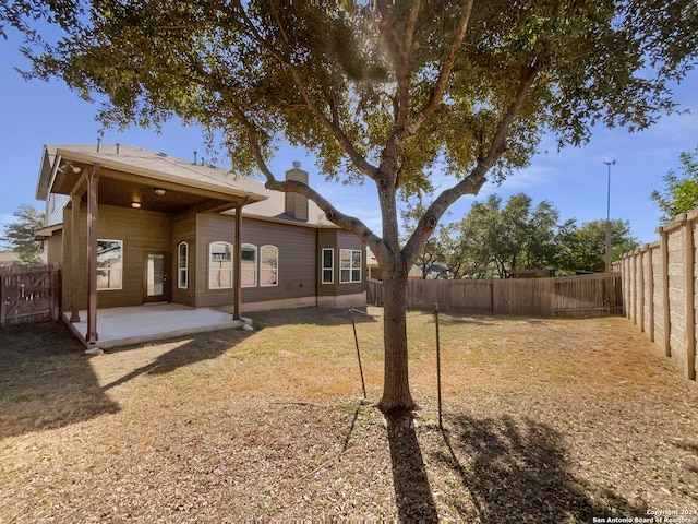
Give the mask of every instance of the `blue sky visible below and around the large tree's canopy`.
<svg viewBox="0 0 698 524">
<path fill-rule="evenodd" d="M 14 70 L 27 68 L 19 53 L 21 40 L 10 34 L 0 39 L 0 227 L 13 221 L 12 213 L 21 204 L 35 200 L 41 147 L 47 143 L 96 143 L 100 124 L 94 120 L 97 105 L 81 100 L 58 81 L 25 82 Z M 675 100 L 689 115 L 664 117 L 658 124 L 640 133 L 625 129 L 593 131 L 591 142 L 582 147 L 557 152 L 552 139 L 545 139 L 531 166 L 515 172 L 501 186 L 488 183 L 478 196 L 466 196 L 450 210 L 446 222 L 468 213 L 473 201 L 496 193 L 506 201 L 525 192 L 534 203 L 550 201 L 561 214 L 561 222 L 578 223 L 605 219 L 607 167 L 604 160 L 616 160 L 611 167 L 611 217 L 629 221 L 633 234 L 641 243 L 657 240 L 655 228 L 661 213 L 650 200 L 654 189 L 662 189 L 662 176 L 681 167 L 682 152 L 693 152 L 698 144 L 698 72 L 691 72 L 674 90 Z M 179 122 L 166 126 L 160 134 L 131 128 L 124 132 L 107 131 L 103 143 L 129 143 L 163 151 L 172 156 L 192 158 L 205 155 L 201 132 Z M 301 160 L 310 172 L 310 181 L 339 210 L 358 216 L 376 233 L 381 231 L 375 188 L 325 183 L 313 158 L 302 151 L 282 148 L 272 167 L 282 174 L 293 160 Z M 219 165 L 225 166 L 224 162 Z M 435 174 L 437 183 L 449 180 Z M 445 189 L 445 184 L 443 188 Z"/>
</svg>

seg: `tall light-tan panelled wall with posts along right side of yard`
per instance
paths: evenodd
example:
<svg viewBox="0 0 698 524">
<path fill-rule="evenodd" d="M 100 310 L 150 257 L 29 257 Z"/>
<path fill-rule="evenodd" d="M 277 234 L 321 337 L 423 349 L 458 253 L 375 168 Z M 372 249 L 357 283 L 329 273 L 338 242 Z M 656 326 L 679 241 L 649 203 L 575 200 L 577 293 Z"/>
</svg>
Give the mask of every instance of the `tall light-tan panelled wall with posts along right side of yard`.
<svg viewBox="0 0 698 524">
<path fill-rule="evenodd" d="M 623 255 L 626 314 L 695 380 L 698 209 L 679 215 L 658 233 L 660 241 Z"/>
</svg>

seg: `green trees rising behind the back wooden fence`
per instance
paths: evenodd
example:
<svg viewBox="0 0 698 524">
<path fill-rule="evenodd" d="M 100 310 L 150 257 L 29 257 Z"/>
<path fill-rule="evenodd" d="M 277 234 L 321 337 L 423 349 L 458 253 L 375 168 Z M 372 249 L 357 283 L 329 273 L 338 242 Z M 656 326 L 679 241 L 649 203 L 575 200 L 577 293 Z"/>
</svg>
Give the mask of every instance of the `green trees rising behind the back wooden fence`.
<svg viewBox="0 0 698 524">
<path fill-rule="evenodd" d="M 525 193 L 504 205 L 496 195 L 474 202 L 464 218 L 444 228 L 438 241 L 438 257 L 454 278 L 504 278 L 515 270 L 574 274 L 605 267 L 605 221 L 579 226 L 569 218 L 561 224 L 552 203 L 533 205 Z M 627 222 L 611 221 L 611 246 L 614 261 L 639 246 Z"/>
</svg>

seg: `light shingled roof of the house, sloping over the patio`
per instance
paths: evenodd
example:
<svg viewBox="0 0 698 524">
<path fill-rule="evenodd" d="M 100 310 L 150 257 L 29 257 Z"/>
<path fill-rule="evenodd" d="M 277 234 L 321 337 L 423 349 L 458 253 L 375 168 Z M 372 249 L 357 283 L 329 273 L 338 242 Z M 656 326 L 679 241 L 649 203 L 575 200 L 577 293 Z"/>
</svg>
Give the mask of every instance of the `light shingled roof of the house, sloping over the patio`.
<svg viewBox="0 0 698 524">
<path fill-rule="evenodd" d="M 336 227 L 325 218 L 325 214 L 314 202 L 309 202 L 309 221 L 303 223 L 285 213 L 285 193 L 270 191 L 258 180 L 236 175 L 229 169 L 208 164 L 194 164 L 192 159 L 185 160 L 129 144 L 100 144 L 99 147 L 97 144 L 45 145 L 36 188 L 38 200 L 46 200 L 49 192 L 57 192 L 55 184 L 59 164 L 70 166 L 71 162 L 100 164 L 104 168 L 155 180 L 249 196 L 252 203 L 243 207 L 244 216 L 293 222 L 315 227 Z M 65 169 L 68 167 L 62 168 L 62 170 Z"/>
</svg>

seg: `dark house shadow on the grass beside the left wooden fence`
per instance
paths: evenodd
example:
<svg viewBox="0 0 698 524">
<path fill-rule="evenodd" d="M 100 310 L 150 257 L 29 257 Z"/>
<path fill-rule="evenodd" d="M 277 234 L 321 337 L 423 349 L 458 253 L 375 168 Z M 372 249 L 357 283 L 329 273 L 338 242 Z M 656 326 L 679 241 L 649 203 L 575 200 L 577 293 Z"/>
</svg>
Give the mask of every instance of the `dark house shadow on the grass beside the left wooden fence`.
<svg viewBox="0 0 698 524">
<path fill-rule="evenodd" d="M 65 324 L 0 330 L 0 439 L 117 412 Z"/>
</svg>

